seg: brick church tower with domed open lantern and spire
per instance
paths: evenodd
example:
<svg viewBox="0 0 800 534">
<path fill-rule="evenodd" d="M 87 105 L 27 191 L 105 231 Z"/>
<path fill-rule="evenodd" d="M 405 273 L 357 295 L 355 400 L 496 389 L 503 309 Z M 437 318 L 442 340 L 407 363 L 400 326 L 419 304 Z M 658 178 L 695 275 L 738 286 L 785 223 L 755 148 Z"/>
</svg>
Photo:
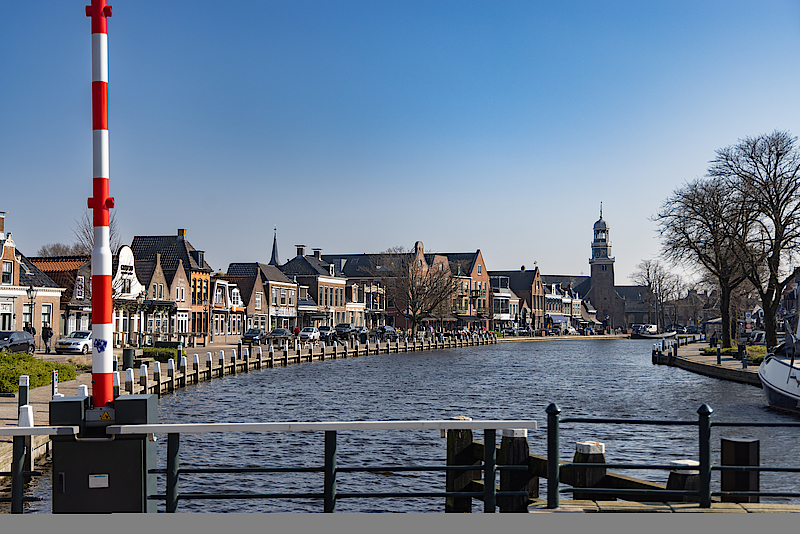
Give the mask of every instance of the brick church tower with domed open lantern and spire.
<svg viewBox="0 0 800 534">
<path fill-rule="evenodd" d="M 611 255 L 609 226 L 603 219 L 603 205 L 600 204 L 600 219 L 594 223 L 591 267 L 592 289 L 586 295 L 597 310 L 597 319 L 605 326 L 623 326 L 624 303 L 614 288 L 614 257 Z"/>
</svg>

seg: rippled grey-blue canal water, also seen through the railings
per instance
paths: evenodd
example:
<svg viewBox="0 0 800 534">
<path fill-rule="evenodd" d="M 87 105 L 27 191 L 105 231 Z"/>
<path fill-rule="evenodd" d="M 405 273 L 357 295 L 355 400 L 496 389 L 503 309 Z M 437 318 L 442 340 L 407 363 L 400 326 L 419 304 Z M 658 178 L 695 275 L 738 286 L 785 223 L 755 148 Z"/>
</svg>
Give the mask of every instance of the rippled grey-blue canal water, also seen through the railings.
<svg viewBox="0 0 800 534">
<path fill-rule="evenodd" d="M 431 352 L 385 354 L 305 363 L 203 382 L 159 401 L 164 423 L 347 421 L 397 419 L 535 419 L 533 454 L 546 454 L 545 408 L 556 403 L 562 417 L 696 420 L 707 403 L 714 421 L 797 422 L 769 410 L 760 389 L 651 363 L 647 340 L 575 339 L 503 343 Z M 478 431 L 476 439 L 482 440 Z M 719 463 L 721 437 L 760 440 L 761 464 L 797 466 L 796 428 L 714 428 L 712 461 Z M 575 442 L 601 441 L 610 462 L 667 464 L 697 458 L 696 427 L 563 424 L 561 459 Z M 499 437 L 498 437 L 499 443 Z M 446 440 L 438 431 L 340 432 L 338 466 L 443 464 Z M 321 432 L 184 434 L 182 467 L 320 466 Z M 166 436 L 159 437 L 165 467 Z M 622 472 L 622 471 L 620 471 Z M 666 483 L 664 471 L 624 474 Z M 719 488 L 719 472 L 712 474 Z M 337 491 L 444 491 L 443 473 L 341 473 Z M 33 509 L 49 510 L 46 498 Z M 798 491 L 797 474 L 762 473 L 762 491 Z M 164 491 L 163 477 L 159 492 Z M 182 475 L 180 491 L 199 493 L 300 493 L 322 491 L 321 473 Z M 540 492 L 546 495 L 546 481 Z M 570 498 L 565 495 L 564 498 Z M 762 498 L 762 502 L 798 499 Z M 163 509 L 163 504 L 159 504 Z M 337 511 L 441 512 L 443 499 L 342 499 Z M 179 511 L 317 512 L 320 500 L 181 501 Z M 475 511 L 482 503 L 475 502 Z"/>
</svg>

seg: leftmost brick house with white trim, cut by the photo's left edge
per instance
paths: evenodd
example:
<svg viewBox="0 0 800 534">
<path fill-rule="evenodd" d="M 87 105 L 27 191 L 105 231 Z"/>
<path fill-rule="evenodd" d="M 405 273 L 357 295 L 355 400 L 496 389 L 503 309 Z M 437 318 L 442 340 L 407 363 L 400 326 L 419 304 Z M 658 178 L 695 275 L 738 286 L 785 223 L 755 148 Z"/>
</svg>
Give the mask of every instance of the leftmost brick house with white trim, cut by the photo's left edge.
<svg viewBox="0 0 800 534">
<path fill-rule="evenodd" d="M 0 330 L 22 330 L 31 324 L 40 345 L 42 327 L 47 323 L 53 329 L 55 341 L 63 332 L 62 322 L 54 320 L 57 318 L 54 313 L 60 308 L 64 288 L 17 250 L 11 232 L 5 232 L 6 214 L 0 211 Z"/>
</svg>

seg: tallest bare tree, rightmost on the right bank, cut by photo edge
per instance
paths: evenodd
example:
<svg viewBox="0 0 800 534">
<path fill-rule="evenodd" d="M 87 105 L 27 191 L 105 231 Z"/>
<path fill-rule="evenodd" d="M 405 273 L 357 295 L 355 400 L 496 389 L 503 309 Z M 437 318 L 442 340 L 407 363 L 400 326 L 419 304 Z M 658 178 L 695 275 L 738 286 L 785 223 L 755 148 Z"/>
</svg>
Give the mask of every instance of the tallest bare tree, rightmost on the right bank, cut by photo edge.
<svg viewBox="0 0 800 534">
<path fill-rule="evenodd" d="M 738 235 L 734 252 L 764 308 L 768 346 L 777 344 L 777 312 L 783 290 L 800 273 L 800 149 L 788 132 L 748 137 L 717 150 L 709 176 L 738 194 L 753 223 Z"/>
</svg>

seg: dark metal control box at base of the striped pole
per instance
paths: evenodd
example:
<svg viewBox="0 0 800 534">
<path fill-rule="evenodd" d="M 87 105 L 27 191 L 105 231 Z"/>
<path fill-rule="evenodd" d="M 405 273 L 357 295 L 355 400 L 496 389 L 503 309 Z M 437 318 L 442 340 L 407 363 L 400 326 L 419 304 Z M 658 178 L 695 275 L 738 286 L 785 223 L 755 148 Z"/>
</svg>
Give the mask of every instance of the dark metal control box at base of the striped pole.
<svg viewBox="0 0 800 534">
<path fill-rule="evenodd" d="M 79 426 L 77 436 L 53 436 L 53 513 L 155 512 L 156 444 L 147 434 L 105 433 L 109 425 L 158 423 L 155 395 L 123 395 L 113 407 L 88 397 L 50 402 L 50 424 Z M 79 419 L 78 419 L 79 418 Z"/>
</svg>

